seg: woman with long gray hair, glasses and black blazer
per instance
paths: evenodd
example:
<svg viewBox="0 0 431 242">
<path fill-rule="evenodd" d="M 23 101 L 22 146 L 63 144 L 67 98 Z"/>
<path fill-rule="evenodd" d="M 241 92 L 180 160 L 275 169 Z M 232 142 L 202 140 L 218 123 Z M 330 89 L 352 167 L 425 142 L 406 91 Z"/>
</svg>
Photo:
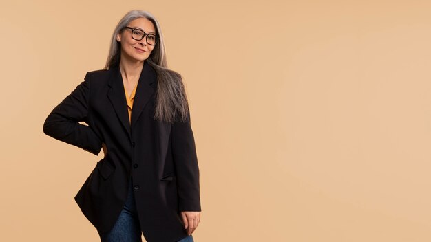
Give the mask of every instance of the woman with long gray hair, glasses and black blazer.
<svg viewBox="0 0 431 242">
<path fill-rule="evenodd" d="M 141 241 L 142 233 L 149 242 L 193 241 L 201 210 L 189 107 L 149 12 L 120 20 L 105 69 L 87 72 L 43 131 L 94 155 L 103 149 L 75 197 L 101 241 Z"/>
</svg>

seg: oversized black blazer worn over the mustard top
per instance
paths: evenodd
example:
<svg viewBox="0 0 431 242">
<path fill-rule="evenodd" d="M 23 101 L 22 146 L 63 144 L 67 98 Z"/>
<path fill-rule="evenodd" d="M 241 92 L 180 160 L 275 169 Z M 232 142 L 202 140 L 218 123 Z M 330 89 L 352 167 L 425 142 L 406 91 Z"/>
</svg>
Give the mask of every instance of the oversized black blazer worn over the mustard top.
<svg viewBox="0 0 431 242">
<path fill-rule="evenodd" d="M 156 72 L 145 61 L 130 123 L 119 68 L 87 72 L 48 115 L 43 131 L 94 155 L 106 144 L 107 155 L 75 197 L 99 231 L 114 226 L 132 180 L 145 239 L 178 241 L 187 236 L 180 211 L 200 211 L 198 160 L 190 116 L 174 124 L 152 118 L 156 89 Z"/>
</svg>

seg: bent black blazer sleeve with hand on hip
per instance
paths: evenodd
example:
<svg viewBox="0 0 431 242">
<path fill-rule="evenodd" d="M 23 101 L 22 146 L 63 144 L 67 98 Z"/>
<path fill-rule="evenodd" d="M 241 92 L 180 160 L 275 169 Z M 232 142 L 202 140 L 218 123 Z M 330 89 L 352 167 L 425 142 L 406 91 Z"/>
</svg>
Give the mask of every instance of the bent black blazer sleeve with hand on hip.
<svg viewBox="0 0 431 242">
<path fill-rule="evenodd" d="M 90 126 L 78 123 L 89 124 L 89 102 L 90 74 L 87 72 L 84 81 L 48 115 L 43 133 L 98 155 L 102 148 L 101 139 Z"/>
</svg>

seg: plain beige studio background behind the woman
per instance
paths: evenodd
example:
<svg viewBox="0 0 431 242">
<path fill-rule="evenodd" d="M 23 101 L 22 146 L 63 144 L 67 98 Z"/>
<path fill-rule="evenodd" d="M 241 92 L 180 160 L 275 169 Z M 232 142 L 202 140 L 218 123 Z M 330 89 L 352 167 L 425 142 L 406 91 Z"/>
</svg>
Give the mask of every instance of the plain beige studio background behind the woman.
<svg viewBox="0 0 431 242">
<path fill-rule="evenodd" d="M 187 85 L 196 241 L 431 241 L 430 8 L 1 1 L 0 241 L 98 241 L 73 197 L 100 157 L 42 124 L 132 9 L 158 18 Z"/>
</svg>

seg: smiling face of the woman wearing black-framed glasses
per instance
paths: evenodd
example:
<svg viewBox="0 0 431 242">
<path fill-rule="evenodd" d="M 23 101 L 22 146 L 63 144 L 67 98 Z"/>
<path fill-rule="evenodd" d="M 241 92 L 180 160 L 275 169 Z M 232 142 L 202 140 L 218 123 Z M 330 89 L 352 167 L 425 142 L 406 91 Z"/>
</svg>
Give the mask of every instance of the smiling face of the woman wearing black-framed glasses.
<svg viewBox="0 0 431 242">
<path fill-rule="evenodd" d="M 146 34 L 156 34 L 153 23 L 145 18 L 135 19 L 127 27 L 143 30 Z M 120 34 L 117 34 L 116 39 L 121 43 L 121 59 L 127 58 L 130 61 L 140 62 L 146 60 L 155 46 L 147 43 L 146 35 L 140 41 L 132 39 L 132 30 L 127 28 L 123 29 Z"/>
</svg>

